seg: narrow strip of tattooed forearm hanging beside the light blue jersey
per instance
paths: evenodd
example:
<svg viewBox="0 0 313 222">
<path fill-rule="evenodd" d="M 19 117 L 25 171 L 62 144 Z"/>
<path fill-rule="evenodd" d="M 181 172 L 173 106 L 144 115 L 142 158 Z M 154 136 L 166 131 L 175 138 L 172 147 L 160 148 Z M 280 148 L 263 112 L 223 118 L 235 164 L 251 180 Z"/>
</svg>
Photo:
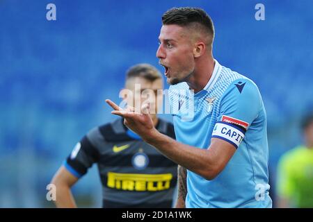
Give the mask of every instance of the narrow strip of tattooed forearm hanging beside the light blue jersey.
<svg viewBox="0 0 313 222">
<path fill-rule="evenodd" d="M 186 169 L 178 165 L 177 175 L 178 175 L 178 194 L 177 194 L 176 208 L 185 208 L 185 200 L 186 200 L 186 195 L 187 195 L 187 185 L 186 185 L 187 171 Z"/>
</svg>

